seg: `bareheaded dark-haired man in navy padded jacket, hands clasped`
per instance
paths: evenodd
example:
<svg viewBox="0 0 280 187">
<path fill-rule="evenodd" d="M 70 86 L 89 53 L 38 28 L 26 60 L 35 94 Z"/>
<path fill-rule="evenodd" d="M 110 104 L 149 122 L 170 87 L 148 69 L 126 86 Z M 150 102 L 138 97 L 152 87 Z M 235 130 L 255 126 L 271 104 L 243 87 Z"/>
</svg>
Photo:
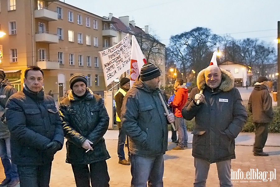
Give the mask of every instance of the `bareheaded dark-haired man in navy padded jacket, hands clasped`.
<svg viewBox="0 0 280 187">
<path fill-rule="evenodd" d="M 61 121 L 54 98 L 44 94 L 44 72 L 30 66 L 24 77 L 23 91 L 13 94 L 6 104 L 12 161 L 21 187 L 49 187 L 54 154 L 64 141 Z"/>
</svg>

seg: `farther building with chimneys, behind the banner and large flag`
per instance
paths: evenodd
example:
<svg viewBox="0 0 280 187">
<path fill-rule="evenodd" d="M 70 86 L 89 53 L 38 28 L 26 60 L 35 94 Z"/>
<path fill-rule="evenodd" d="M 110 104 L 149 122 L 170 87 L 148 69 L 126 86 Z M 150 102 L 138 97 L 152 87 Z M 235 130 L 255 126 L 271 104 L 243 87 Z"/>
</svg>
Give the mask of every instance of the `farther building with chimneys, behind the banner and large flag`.
<svg viewBox="0 0 280 187">
<path fill-rule="evenodd" d="M 123 17 L 113 17 L 112 13 L 109 13 L 109 17 L 104 17 L 107 20 L 107 23 L 110 22 L 110 28 L 108 28 L 108 25 L 104 24 L 104 26 L 107 26 L 107 28 L 103 29 L 110 29 L 111 33 L 114 33 L 114 36 L 111 37 L 108 40 L 104 39 L 104 46 L 113 46 L 117 44 L 119 41 L 121 41 L 127 33 L 129 34 L 130 39 L 132 38 L 132 35 L 136 37 L 138 40 L 139 45 L 141 46 L 141 42 L 143 43 L 143 46 L 153 47 L 153 51 L 150 52 L 150 54 L 147 54 L 145 50 L 142 50 L 144 56 L 147 59 L 147 55 L 149 55 L 149 62 L 156 65 L 161 70 L 161 76 L 160 76 L 160 86 L 165 86 L 165 45 L 154 41 L 153 38 L 149 37 L 149 27 L 145 26 L 144 30 L 140 27 L 135 25 L 135 21 L 129 21 L 129 16 L 123 16 Z M 103 26 L 103 27 L 104 27 Z M 143 47 L 144 48 L 144 47 Z M 159 50 L 160 49 L 160 50 Z M 158 50 L 158 51 L 157 51 Z M 145 53 L 146 52 L 146 53 Z M 129 70 L 122 75 L 122 77 L 129 74 Z"/>
</svg>

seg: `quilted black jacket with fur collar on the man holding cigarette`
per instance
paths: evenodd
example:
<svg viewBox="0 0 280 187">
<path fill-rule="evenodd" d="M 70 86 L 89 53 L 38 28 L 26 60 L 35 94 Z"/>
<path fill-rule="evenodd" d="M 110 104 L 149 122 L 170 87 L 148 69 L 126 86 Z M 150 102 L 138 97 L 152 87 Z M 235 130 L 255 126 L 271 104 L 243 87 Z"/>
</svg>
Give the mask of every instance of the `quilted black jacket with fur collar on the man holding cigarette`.
<svg viewBox="0 0 280 187">
<path fill-rule="evenodd" d="M 99 95 L 87 88 L 82 97 L 77 97 L 71 90 L 60 102 L 59 113 L 67 138 L 67 163 L 91 164 L 110 158 L 103 138 L 109 126 L 109 116 Z M 82 148 L 86 139 L 93 143 L 93 151 L 87 153 Z"/>
</svg>

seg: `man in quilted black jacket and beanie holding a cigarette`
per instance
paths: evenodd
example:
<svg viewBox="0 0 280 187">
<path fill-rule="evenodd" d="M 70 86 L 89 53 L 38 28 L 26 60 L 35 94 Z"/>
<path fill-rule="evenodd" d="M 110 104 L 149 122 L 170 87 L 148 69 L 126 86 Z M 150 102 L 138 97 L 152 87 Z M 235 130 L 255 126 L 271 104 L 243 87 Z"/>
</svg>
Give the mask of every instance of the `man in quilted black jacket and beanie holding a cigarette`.
<svg viewBox="0 0 280 187">
<path fill-rule="evenodd" d="M 66 162 L 72 164 L 77 187 L 108 187 L 106 160 L 110 158 L 103 135 L 109 116 L 100 96 L 87 88 L 83 74 L 70 77 L 71 92 L 59 106 L 66 142 Z M 90 171 L 88 168 L 90 166 Z"/>
</svg>

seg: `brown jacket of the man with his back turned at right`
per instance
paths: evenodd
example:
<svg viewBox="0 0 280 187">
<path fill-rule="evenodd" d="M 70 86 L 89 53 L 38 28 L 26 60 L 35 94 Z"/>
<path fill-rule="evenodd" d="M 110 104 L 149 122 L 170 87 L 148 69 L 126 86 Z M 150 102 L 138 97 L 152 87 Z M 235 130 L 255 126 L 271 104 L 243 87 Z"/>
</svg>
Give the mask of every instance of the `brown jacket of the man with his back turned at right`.
<svg viewBox="0 0 280 187">
<path fill-rule="evenodd" d="M 249 111 L 253 114 L 253 121 L 270 123 L 273 120 L 272 98 L 267 87 L 263 84 L 256 85 L 248 102 Z"/>
</svg>

